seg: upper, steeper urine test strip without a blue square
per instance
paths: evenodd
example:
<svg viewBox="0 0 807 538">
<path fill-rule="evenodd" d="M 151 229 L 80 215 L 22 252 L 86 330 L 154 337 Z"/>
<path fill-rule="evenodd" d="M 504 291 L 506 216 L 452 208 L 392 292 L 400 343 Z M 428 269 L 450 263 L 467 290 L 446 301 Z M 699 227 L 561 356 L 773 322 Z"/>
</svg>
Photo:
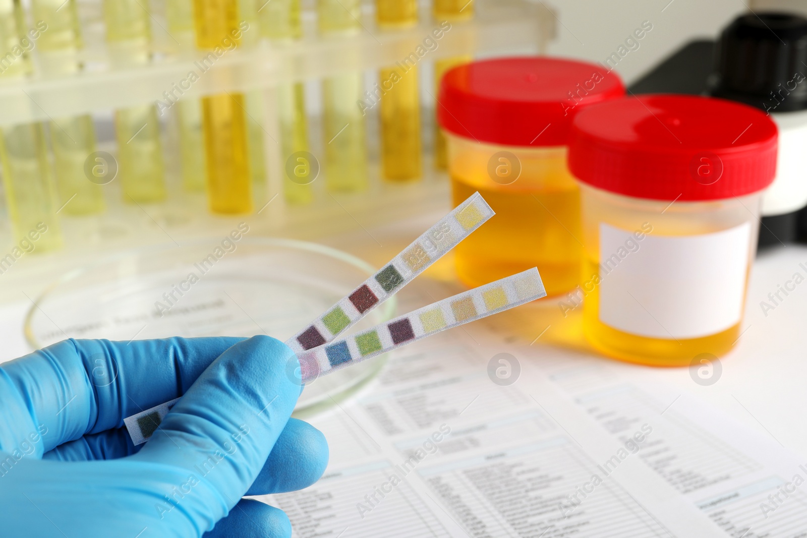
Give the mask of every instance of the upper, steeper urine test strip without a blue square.
<svg viewBox="0 0 807 538">
<path fill-rule="evenodd" d="M 479 193 L 470 196 L 361 286 L 289 340 L 295 353 L 327 344 L 445 255 L 494 214 Z"/>
</svg>

